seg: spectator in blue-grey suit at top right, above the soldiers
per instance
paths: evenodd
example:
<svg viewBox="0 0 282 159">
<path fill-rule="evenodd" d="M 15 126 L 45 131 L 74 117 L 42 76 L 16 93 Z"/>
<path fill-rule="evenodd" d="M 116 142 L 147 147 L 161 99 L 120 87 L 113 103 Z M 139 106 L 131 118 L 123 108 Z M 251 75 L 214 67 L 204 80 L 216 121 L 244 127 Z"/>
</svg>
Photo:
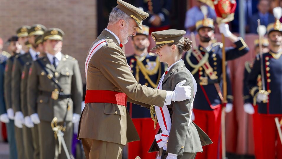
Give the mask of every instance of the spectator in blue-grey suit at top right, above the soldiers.
<svg viewBox="0 0 282 159">
<path fill-rule="evenodd" d="M 273 14 L 269 13 L 270 1 L 260 0 L 257 4 L 258 12 L 255 13 L 250 19 L 250 33 L 257 34 L 257 19 L 260 19 L 260 25 L 265 27 L 275 21 Z"/>
</svg>

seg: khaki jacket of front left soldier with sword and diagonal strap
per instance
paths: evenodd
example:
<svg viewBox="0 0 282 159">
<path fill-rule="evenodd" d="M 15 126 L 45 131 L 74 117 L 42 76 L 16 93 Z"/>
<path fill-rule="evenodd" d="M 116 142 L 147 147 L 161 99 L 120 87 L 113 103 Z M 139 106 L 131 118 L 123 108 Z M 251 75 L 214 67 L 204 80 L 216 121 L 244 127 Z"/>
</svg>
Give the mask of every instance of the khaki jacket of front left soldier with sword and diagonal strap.
<svg viewBox="0 0 282 159">
<path fill-rule="evenodd" d="M 52 74 L 71 98 L 54 100 L 51 93 L 58 89 L 55 82 L 49 80 L 38 61 L 42 62 L 49 74 Z M 47 95 L 48 94 L 48 95 Z M 50 63 L 47 56 L 32 62 L 27 81 L 28 115 L 38 113 L 39 119 L 51 122 L 54 117 L 58 122 L 71 121 L 73 113 L 80 114 L 82 98 L 82 81 L 76 59 L 63 55 L 58 66 Z"/>
</svg>

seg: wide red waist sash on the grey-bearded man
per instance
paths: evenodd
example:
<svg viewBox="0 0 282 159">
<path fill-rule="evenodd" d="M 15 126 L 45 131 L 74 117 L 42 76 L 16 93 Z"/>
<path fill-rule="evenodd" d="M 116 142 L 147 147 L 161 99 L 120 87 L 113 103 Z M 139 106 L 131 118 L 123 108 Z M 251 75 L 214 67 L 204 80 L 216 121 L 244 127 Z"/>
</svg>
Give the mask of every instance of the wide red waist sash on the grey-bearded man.
<svg viewBox="0 0 282 159">
<path fill-rule="evenodd" d="M 126 106 L 127 95 L 110 90 L 87 90 L 85 103 L 113 103 Z"/>
</svg>

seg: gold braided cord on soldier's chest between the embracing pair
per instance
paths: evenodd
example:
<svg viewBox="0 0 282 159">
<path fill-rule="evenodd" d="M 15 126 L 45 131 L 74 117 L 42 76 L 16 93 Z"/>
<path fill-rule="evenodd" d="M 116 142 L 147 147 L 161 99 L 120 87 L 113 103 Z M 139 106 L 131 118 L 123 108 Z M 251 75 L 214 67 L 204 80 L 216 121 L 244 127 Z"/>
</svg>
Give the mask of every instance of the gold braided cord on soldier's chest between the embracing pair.
<svg viewBox="0 0 282 159">
<path fill-rule="evenodd" d="M 156 65 L 156 67 L 153 70 L 147 70 L 146 67 L 144 66 L 144 64 L 141 61 L 139 61 L 138 59 L 136 59 L 136 75 L 137 75 L 137 69 L 138 69 L 138 73 L 139 73 L 139 69 L 140 69 L 142 74 L 144 75 L 145 79 L 148 80 L 148 82 L 150 83 L 150 85 L 153 88 L 157 88 L 159 79 L 161 78 L 161 74 L 160 74 L 160 71 L 161 71 L 160 63 L 161 62 L 159 62 L 159 57 L 156 58 L 156 63 L 157 63 L 157 65 Z M 158 80 L 157 80 L 157 83 L 154 83 L 150 79 L 149 75 L 150 76 L 154 75 L 158 71 L 159 71 Z M 136 80 L 137 80 L 137 76 L 136 76 Z M 139 75 L 138 75 L 138 80 L 139 80 Z"/>
</svg>

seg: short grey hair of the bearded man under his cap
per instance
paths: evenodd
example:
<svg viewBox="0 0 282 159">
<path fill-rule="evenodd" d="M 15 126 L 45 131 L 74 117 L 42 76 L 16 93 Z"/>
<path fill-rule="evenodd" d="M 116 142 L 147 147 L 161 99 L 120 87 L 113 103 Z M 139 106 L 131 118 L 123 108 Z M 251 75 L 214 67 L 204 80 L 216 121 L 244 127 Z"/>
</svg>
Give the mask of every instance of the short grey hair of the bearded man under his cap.
<svg viewBox="0 0 282 159">
<path fill-rule="evenodd" d="M 128 24 L 131 17 L 125 14 L 122 10 L 118 9 L 117 7 L 114 7 L 112 12 L 110 13 L 109 24 L 115 24 L 120 19 L 124 19 Z"/>
</svg>

